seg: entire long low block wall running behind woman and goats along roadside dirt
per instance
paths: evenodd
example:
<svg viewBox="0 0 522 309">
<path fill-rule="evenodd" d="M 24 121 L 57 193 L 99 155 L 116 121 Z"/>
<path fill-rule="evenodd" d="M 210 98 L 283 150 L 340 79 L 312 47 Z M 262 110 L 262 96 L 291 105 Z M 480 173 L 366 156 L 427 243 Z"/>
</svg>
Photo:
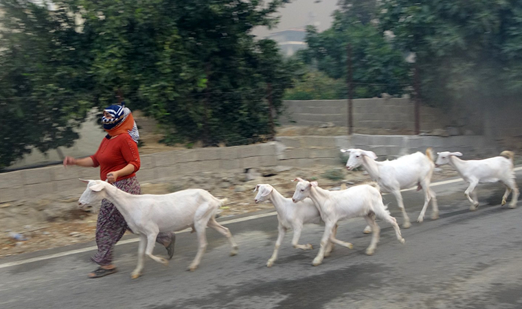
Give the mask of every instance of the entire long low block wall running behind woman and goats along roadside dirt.
<svg viewBox="0 0 522 309">
<path fill-rule="evenodd" d="M 266 144 L 226 148 L 172 150 L 141 156 L 138 172 L 141 183 L 172 181 L 187 174 L 203 172 L 244 172 L 248 168 L 275 165 L 338 165 L 345 159 L 340 148 L 372 150 L 380 159 L 433 147 L 435 152 L 464 153 L 464 159 L 497 155 L 494 143 L 482 136 L 419 137 L 411 135 L 352 135 L 278 137 Z M 81 179 L 99 179 L 98 168 L 63 168 L 62 165 L 0 174 L 0 205 L 12 201 L 80 196 Z"/>
</svg>

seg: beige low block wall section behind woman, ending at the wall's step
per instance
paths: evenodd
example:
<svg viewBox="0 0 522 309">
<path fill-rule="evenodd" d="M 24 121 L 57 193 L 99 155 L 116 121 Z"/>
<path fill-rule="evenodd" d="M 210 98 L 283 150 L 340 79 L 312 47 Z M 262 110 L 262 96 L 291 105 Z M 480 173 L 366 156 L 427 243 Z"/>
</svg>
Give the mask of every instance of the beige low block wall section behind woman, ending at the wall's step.
<svg viewBox="0 0 522 309">
<path fill-rule="evenodd" d="M 139 181 L 176 179 L 178 175 L 277 165 L 275 143 L 227 148 L 173 150 L 141 156 Z M 46 195 L 78 195 L 85 189 L 78 179 L 100 179 L 99 168 L 54 165 L 0 174 L 0 203 Z"/>
</svg>

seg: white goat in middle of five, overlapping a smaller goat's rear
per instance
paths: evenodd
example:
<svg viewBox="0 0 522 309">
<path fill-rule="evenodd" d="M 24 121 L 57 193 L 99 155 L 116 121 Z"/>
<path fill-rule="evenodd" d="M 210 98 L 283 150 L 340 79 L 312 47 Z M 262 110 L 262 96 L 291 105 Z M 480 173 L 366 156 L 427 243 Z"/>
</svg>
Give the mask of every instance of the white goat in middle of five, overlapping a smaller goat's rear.
<svg viewBox="0 0 522 309">
<path fill-rule="evenodd" d="M 317 257 L 313 260 L 313 265 L 317 266 L 323 262 L 324 252 L 328 242 L 340 244 L 343 247 L 351 248 L 352 244 L 337 240 L 333 235 L 333 229 L 337 222 L 346 220 L 348 218 L 364 217 L 368 225 L 372 227 L 374 233 L 370 247 L 366 249 L 367 255 L 372 255 L 377 247 L 379 240 L 379 233 L 381 229 L 375 222 L 375 216 L 389 222 L 395 229 L 397 239 L 403 244 L 404 238 L 400 235 L 400 229 L 394 217 L 389 215 L 387 207 L 383 204 L 381 192 L 371 185 L 356 185 L 347 190 L 331 192 L 321 189 L 317 186 L 317 181 L 304 181 L 296 178 L 294 181 L 299 181 L 295 187 L 295 192 L 292 198 L 294 203 L 303 201 L 309 197 L 314 201 L 321 213 L 321 218 L 324 220 L 325 228 L 324 234 L 321 238 L 321 248 Z"/>
</svg>

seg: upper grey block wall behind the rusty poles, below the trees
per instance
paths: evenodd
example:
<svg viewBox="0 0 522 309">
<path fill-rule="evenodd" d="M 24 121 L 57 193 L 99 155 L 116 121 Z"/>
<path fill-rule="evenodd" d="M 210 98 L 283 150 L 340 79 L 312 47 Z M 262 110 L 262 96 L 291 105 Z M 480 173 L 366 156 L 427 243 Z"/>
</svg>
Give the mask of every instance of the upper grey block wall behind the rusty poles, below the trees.
<svg viewBox="0 0 522 309">
<path fill-rule="evenodd" d="M 317 126 L 333 122 L 347 126 L 346 100 L 284 101 L 286 111 L 280 117 L 284 125 Z M 407 98 L 353 100 L 354 128 L 415 129 L 413 102 Z M 421 106 L 421 130 L 444 128 L 448 117 L 436 108 Z"/>
</svg>

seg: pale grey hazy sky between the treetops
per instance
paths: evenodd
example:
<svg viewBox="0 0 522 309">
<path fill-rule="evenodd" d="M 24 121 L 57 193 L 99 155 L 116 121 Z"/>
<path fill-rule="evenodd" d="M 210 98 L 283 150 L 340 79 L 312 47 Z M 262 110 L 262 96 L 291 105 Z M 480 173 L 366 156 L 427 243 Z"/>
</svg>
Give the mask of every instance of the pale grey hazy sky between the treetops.
<svg viewBox="0 0 522 309">
<path fill-rule="evenodd" d="M 315 3 L 320 1 L 319 3 Z M 332 12 L 337 8 L 337 0 L 293 0 L 279 12 L 281 16 L 277 28 L 272 30 L 259 27 L 253 31 L 256 36 L 266 36 L 272 32 L 287 30 L 294 27 L 304 27 L 312 23 L 318 24 L 319 31 L 330 27 Z M 314 15 L 313 17 L 310 15 Z"/>
</svg>

